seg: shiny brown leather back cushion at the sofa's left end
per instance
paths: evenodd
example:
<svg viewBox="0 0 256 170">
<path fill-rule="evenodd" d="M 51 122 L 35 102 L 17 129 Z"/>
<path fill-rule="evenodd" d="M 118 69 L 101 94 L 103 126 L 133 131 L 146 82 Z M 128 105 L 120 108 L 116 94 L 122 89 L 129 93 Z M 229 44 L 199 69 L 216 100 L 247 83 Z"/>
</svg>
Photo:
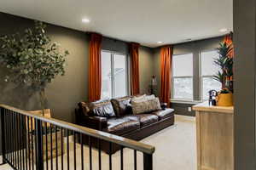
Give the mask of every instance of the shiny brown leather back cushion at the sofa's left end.
<svg viewBox="0 0 256 170">
<path fill-rule="evenodd" d="M 96 101 L 89 104 L 90 116 L 115 116 L 110 100 Z"/>
</svg>

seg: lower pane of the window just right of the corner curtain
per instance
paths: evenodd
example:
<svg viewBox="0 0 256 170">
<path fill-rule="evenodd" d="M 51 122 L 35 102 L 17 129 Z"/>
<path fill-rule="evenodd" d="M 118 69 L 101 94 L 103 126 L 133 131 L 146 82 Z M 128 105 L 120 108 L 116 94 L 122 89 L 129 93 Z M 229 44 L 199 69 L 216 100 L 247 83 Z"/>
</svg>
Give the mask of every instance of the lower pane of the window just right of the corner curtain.
<svg viewBox="0 0 256 170">
<path fill-rule="evenodd" d="M 173 78 L 173 98 L 174 99 L 193 99 L 193 78 L 174 77 Z"/>
</svg>

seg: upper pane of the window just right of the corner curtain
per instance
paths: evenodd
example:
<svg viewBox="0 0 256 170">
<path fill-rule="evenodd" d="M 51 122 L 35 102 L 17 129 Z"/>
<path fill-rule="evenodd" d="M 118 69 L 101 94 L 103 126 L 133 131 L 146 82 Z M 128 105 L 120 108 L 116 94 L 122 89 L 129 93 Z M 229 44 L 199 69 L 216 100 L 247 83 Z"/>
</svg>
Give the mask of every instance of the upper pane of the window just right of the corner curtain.
<svg viewBox="0 0 256 170">
<path fill-rule="evenodd" d="M 172 57 L 173 77 L 193 77 L 193 54 Z"/>
</svg>

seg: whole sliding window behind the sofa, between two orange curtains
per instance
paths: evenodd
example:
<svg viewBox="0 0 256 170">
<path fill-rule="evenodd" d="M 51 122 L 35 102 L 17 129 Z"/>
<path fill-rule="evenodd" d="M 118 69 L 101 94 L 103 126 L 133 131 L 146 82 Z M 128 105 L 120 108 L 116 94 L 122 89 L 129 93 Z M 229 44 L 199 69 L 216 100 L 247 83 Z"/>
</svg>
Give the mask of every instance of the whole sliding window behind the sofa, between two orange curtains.
<svg viewBox="0 0 256 170">
<path fill-rule="evenodd" d="M 127 95 L 127 57 L 102 51 L 102 99 Z"/>
</svg>

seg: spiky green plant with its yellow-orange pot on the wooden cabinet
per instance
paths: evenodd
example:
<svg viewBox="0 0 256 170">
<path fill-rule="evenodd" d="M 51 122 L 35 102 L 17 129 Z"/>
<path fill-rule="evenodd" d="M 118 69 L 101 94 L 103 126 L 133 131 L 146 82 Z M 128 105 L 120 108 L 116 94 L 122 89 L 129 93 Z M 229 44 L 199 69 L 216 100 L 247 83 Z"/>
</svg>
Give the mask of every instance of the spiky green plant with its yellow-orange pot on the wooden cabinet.
<svg viewBox="0 0 256 170">
<path fill-rule="evenodd" d="M 219 66 L 221 71 L 213 77 L 221 82 L 222 89 L 218 92 L 217 105 L 233 105 L 233 45 L 226 42 L 220 43 L 218 48 L 218 58 L 214 63 Z"/>
</svg>

